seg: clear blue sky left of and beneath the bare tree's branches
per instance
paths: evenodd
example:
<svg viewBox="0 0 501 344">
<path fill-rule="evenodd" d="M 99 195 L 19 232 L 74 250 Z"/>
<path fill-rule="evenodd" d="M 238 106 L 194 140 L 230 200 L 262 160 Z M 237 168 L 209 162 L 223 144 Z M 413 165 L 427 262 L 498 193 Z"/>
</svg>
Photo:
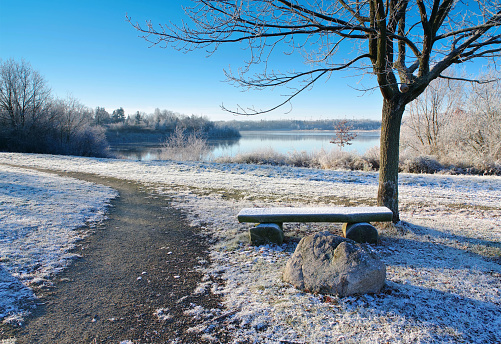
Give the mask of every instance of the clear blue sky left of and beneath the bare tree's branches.
<svg viewBox="0 0 501 344">
<path fill-rule="evenodd" d="M 25 59 L 47 80 L 53 93 L 88 107 L 119 107 L 126 114 L 155 108 L 213 120 L 247 119 L 220 109 L 266 108 L 287 90 L 242 92 L 224 82 L 224 68 L 242 66 L 246 51 L 226 47 L 211 57 L 150 48 L 126 21 L 179 21 L 189 1 L 24 1 L 0 0 L 0 58 Z M 295 63 L 295 62 L 293 62 Z M 293 66 L 294 67 L 294 66 Z M 301 66 L 298 65 L 298 69 Z M 358 78 L 335 74 L 284 107 L 252 119 L 381 118 L 379 91 L 354 90 Z M 366 86 L 374 86 L 365 80 Z M 351 86 L 351 87 L 350 87 Z"/>
</svg>

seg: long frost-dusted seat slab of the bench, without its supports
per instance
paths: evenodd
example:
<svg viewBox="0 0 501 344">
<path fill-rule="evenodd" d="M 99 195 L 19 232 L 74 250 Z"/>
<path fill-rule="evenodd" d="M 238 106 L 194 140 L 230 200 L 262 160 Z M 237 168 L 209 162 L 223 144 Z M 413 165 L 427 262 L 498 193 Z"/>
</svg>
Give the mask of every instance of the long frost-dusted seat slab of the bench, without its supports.
<svg viewBox="0 0 501 344">
<path fill-rule="evenodd" d="M 244 208 L 240 222 L 378 222 L 391 221 L 393 213 L 386 207 L 317 207 L 317 208 Z"/>
</svg>

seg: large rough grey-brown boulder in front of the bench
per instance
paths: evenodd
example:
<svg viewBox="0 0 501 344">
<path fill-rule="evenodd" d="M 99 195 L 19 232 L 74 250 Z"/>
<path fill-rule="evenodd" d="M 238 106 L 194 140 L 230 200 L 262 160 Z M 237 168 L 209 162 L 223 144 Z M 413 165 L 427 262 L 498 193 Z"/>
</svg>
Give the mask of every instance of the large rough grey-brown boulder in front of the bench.
<svg viewBox="0 0 501 344">
<path fill-rule="evenodd" d="M 386 267 L 366 246 L 320 232 L 301 239 L 283 278 L 304 291 L 344 297 L 379 292 Z"/>
</svg>

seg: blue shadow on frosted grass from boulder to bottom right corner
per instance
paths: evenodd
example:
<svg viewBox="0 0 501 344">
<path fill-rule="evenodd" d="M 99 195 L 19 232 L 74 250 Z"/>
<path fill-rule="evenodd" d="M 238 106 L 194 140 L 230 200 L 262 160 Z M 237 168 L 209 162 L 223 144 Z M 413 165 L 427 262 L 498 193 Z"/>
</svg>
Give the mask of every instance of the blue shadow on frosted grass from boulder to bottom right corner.
<svg viewBox="0 0 501 344">
<path fill-rule="evenodd" d="M 411 327 L 425 328 L 434 340 L 445 342 L 499 343 L 501 304 L 475 300 L 454 293 L 410 284 L 387 282 L 368 313 L 397 323 L 404 318 Z M 367 314 L 368 315 L 368 314 Z"/>
</svg>

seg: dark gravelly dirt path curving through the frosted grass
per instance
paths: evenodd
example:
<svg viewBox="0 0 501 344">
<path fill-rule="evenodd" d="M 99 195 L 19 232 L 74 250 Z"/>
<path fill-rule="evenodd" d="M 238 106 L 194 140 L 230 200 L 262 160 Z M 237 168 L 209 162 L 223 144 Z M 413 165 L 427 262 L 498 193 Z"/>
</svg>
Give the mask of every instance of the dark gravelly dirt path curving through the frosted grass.
<svg viewBox="0 0 501 344">
<path fill-rule="evenodd" d="M 220 308 L 219 300 L 192 296 L 195 271 L 208 260 L 207 245 L 169 199 L 123 180 L 70 174 L 119 191 L 109 220 L 79 243 L 76 260 L 38 292 L 33 316 L 14 335 L 22 343 L 199 343 L 186 330 L 196 323 L 183 312 L 190 303 Z M 160 320 L 155 311 L 168 309 Z M 8 338 L 8 337 L 7 337 Z M 224 342 L 224 338 L 219 338 Z"/>
</svg>

